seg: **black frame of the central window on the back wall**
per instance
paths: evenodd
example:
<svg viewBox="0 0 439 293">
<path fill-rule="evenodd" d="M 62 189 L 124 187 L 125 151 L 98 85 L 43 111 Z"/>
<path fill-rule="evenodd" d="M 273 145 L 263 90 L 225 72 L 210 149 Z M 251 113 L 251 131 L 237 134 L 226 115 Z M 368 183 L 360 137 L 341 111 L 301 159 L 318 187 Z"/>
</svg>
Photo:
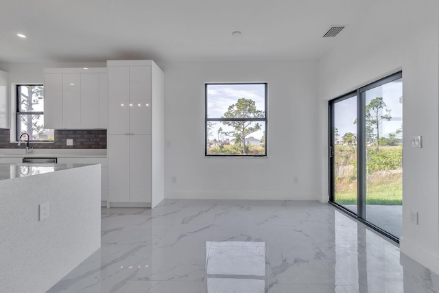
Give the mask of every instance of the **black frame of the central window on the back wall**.
<svg viewBox="0 0 439 293">
<path fill-rule="evenodd" d="M 263 118 L 222 118 L 222 117 L 207 117 L 208 114 L 208 95 L 207 89 L 209 85 L 246 85 L 246 84 L 263 84 L 265 87 L 264 91 L 264 117 Z M 221 121 L 261 121 L 264 123 L 264 127 L 261 128 L 264 131 L 264 154 L 208 154 L 208 138 L 209 130 L 208 123 L 221 122 Z M 239 157 L 239 158 L 265 158 L 268 157 L 268 82 L 205 82 L 204 83 L 204 156 L 205 157 Z"/>
</svg>

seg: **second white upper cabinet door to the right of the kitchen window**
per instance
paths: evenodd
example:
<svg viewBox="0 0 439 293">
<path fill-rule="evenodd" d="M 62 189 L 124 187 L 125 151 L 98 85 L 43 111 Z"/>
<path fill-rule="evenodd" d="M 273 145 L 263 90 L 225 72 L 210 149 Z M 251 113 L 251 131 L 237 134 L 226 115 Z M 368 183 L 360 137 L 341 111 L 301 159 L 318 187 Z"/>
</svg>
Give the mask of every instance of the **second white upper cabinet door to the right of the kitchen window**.
<svg viewBox="0 0 439 293">
<path fill-rule="evenodd" d="M 80 73 L 62 73 L 62 128 L 81 128 Z"/>
</svg>

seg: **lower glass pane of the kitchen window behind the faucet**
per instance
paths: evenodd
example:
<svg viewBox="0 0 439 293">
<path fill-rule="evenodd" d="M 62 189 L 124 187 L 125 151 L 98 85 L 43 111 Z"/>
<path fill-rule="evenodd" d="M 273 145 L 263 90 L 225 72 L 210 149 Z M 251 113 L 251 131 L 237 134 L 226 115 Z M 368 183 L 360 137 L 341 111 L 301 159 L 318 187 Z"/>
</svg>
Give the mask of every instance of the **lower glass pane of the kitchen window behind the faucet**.
<svg viewBox="0 0 439 293">
<path fill-rule="evenodd" d="M 43 126 L 44 115 L 17 115 L 17 119 L 19 119 L 19 131 L 17 133 L 28 133 L 31 141 L 54 140 L 54 130 L 45 129 Z M 17 137 L 18 139 L 19 137 Z"/>
</svg>

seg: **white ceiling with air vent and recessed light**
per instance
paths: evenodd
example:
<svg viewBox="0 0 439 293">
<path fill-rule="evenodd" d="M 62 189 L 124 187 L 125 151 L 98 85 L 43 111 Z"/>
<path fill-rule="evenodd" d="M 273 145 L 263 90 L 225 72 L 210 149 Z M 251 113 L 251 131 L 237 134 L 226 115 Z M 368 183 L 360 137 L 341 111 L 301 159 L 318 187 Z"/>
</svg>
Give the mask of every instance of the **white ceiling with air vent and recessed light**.
<svg viewBox="0 0 439 293">
<path fill-rule="evenodd" d="M 355 34 L 380 2 L 7 0 L 0 62 L 315 60 Z M 331 25 L 348 26 L 322 38 Z"/>
</svg>

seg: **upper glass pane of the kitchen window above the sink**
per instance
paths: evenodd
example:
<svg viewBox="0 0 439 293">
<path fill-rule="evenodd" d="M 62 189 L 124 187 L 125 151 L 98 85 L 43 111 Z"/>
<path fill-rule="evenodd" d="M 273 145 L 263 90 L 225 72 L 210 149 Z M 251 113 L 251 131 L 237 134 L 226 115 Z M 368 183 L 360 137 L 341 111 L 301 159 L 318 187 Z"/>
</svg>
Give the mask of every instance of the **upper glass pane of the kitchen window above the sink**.
<svg viewBox="0 0 439 293">
<path fill-rule="evenodd" d="M 21 85 L 17 86 L 17 91 L 19 112 L 43 112 L 42 85 Z"/>
</svg>

